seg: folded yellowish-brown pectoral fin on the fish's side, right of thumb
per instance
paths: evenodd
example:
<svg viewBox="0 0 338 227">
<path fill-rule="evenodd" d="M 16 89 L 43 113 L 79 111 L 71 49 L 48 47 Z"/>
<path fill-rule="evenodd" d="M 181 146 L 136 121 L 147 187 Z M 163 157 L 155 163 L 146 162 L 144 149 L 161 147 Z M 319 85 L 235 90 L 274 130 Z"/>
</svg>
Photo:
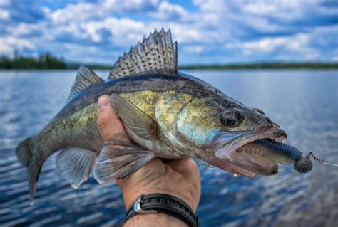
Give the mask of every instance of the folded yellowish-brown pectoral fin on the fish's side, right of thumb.
<svg viewBox="0 0 338 227">
<path fill-rule="evenodd" d="M 156 139 L 158 124 L 153 118 L 120 95 L 111 95 L 110 103 L 129 130 L 142 139 L 152 142 Z"/>
</svg>

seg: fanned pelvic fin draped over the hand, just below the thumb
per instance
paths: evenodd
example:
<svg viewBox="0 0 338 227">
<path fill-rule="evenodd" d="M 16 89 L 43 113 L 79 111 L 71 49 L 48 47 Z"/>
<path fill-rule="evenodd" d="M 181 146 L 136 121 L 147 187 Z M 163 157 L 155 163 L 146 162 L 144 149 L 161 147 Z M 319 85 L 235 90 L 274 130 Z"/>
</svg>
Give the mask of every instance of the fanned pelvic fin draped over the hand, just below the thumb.
<svg viewBox="0 0 338 227">
<path fill-rule="evenodd" d="M 94 167 L 99 184 L 123 179 L 143 167 L 155 157 L 153 152 L 123 139 L 108 139 Z"/>
</svg>

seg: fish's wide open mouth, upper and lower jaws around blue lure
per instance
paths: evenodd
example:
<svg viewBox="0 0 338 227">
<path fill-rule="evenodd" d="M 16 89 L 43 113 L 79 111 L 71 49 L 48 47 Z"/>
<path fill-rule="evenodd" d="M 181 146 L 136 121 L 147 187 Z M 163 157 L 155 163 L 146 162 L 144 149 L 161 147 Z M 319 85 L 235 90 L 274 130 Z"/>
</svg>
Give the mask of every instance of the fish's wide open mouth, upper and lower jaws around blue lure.
<svg viewBox="0 0 338 227">
<path fill-rule="evenodd" d="M 275 161 L 262 157 L 257 147 L 257 152 L 248 152 L 256 140 L 274 139 L 282 142 L 287 137 L 284 130 L 279 127 L 263 127 L 259 130 L 225 133 L 217 138 L 215 162 L 217 167 L 232 172 L 235 176 L 274 175 L 278 172 Z"/>
</svg>

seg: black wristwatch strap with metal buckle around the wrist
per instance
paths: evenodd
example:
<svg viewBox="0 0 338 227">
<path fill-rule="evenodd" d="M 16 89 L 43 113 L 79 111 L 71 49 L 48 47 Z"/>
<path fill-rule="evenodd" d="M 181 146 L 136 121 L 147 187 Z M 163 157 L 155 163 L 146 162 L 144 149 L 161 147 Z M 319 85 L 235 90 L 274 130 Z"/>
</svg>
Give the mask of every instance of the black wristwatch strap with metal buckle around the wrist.
<svg viewBox="0 0 338 227">
<path fill-rule="evenodd" d="M 165 213 L 190 227 L 199 227 L 198 216 L 184 201 L 168 194 L 140 195 L 126 213 L 125 222 L 137 213 Z"/>
</svg>

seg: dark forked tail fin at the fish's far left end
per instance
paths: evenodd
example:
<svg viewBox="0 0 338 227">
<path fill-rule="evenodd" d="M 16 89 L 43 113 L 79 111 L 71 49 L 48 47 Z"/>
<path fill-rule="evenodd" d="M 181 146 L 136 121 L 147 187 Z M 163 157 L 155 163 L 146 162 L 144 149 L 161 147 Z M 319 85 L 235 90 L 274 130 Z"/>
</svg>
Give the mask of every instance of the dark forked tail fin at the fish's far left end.
<svg viewBox="0 0 338 227">
<path fill-rule="evenodd" d="M 18 157 L 22 166 L 27 167 L 28 169 L 29 195 L 30 201 L 33 203 L 34 193 L 36 190 L 36 181 L 39 179 L 42 164 L 36 162 L 33 157 L 31 152 L 31 139 L 32 137 L 28 137 L 19 144 L 19 146 L 16 148 L 16 156 Z"/>
</svg>

